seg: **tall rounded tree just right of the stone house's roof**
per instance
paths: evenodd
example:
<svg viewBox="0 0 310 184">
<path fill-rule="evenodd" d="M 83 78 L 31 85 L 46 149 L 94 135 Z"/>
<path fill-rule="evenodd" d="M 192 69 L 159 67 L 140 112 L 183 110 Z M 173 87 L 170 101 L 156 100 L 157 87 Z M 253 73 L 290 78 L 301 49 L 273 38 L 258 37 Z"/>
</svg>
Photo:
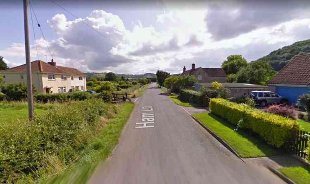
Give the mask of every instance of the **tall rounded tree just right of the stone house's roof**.
<svg viewBox="0 0 310 184">
<path fill-rule="evenodd" d="M 227 60 L 222 63 L 222 68 L 228 75 L 237 73 L 241 67 L 246 67 L 247 65 L 248 63 L 245 58 L 242 58 L 242 55 L 229 55 Z"/>
</svg>

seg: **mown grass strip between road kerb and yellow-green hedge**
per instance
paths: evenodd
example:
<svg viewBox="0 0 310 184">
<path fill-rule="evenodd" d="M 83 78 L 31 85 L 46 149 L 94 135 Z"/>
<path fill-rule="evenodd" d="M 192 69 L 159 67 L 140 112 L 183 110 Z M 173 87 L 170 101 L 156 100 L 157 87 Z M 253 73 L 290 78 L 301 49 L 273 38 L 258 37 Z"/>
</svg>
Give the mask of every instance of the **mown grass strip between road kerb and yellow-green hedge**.
<svg viewBox="0 0 310 184">
<path fill-rule="evenodd" d="M 267 145 L 263 140 L 250 136 L 244 130 L 237 130 L 235 125 L 224 121 L 212 113 L 193 114 L 206 127 L 223 139 L 242 158 L 265 157 L 280 154 L 276 148 Z"/>
</svg>

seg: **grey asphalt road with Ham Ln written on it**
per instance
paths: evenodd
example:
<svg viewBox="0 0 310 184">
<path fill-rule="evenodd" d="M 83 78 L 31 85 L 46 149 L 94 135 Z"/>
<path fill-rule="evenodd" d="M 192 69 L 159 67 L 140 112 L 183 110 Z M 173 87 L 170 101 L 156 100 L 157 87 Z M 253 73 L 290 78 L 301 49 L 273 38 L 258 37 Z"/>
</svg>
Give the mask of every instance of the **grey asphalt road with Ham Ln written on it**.
<svg viewBox="0 0 310 184">
<path fill-rule="evenodd" d="M 284 183 L 263 166 L 238 159 L 155 86 L 136 100 L 119 145 L 90 183 Z M 154 127 L 135 128 L 143 126 L 135 123 L 142 122 L 139 110 L 146 106 L 155 118 L 146 126 Z"/>
</svg>

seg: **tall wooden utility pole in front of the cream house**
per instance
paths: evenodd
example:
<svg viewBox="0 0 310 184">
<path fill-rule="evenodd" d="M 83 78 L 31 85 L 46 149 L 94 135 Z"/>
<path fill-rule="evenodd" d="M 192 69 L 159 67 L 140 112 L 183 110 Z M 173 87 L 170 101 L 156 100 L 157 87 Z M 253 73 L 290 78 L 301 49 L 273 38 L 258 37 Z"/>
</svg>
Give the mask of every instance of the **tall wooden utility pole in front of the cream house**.
<svg viewBox="0 0 310 184">
<path fill-rule="evenodd" d="M 24 30 L 25 30 L 25 52 L 27 68 L 27 94 L 28 94 L 28 114 L 29 120 L 33 119 L 33 94 L 32 94 L 32 73 L 30 63 L 30 45 L 28 28 L 28 0 L 24 0 Z"/>
</svg>

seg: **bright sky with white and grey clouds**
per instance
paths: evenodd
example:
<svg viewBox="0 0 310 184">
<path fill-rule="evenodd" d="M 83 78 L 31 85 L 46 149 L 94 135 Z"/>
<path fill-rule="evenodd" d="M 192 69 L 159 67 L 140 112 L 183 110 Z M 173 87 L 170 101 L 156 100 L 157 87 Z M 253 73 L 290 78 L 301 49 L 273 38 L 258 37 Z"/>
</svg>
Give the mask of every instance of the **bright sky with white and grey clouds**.
<svg viewBox="0 0 310 184">
<path fill-rule="evenodd" d="M 305 0 L 30 0 L 30 4 L 31 60 L 53 58 L 57 65 L 83 72 L 136 74 L 160 69 L 175 74 L 184 66 L 190 69 L 192 63 L 219 68 L 231 54 L 250 62 L 310 39 L 310 2 Z M 0 12 L 0 56 L 9 67 L 24 64 L 22 0 L 1 0 Z"/>
</svg>

